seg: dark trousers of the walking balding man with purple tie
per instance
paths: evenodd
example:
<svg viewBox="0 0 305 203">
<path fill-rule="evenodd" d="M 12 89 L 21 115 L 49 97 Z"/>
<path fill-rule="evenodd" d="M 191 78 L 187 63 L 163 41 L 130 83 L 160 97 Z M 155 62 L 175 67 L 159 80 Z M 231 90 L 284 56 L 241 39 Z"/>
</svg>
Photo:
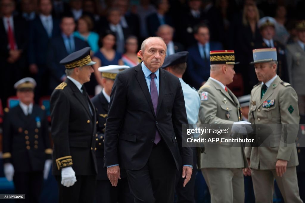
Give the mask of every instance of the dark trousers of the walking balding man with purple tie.
<svg viewBox="0 0 305 203">
<path fill-rule="evenodd" d="M 127 170 L 127 179 L 135 203 L 174 201 L 177 169 L 164 141 L 154 145 L 148 162 L 140 170 Z"/>
</svg>

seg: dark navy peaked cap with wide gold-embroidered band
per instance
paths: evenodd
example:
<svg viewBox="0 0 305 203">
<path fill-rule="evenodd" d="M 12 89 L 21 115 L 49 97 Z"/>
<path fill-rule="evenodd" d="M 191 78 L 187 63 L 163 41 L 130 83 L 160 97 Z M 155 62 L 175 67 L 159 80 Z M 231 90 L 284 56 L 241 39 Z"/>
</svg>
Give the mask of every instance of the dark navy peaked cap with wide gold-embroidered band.
<svg viewBox="0 0 305 203">
<path fill-rule="evenodd" d="M 93 65 L 96 62 L 91 60 L 90 51 L 90 47 L 85 47 L 79 51 L 69 54 L 67 57 L 59 61 L 59 63 L 65 65 L 66 69 Z"/>
</svg>

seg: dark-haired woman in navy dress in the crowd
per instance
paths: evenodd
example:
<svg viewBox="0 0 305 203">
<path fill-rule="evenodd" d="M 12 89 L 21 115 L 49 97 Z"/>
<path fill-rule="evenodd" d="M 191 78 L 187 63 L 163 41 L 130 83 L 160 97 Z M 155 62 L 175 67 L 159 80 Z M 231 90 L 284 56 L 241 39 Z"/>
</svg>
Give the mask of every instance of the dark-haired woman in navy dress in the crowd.
<svg viewBox="0 0 305 203">
<path fill-rule="evenodd" d="M 95 79 L 99 85 L 102 85 L 102 75 L 98 71 L 101 66 L 107 65 L 124 65 L 122 61 L 122 54 L 115 50 L 116 33 L 111 30 L 106 30 L 102 33 L 99 41 L 101 48 L 97 51 L 92 61 L 96 64 L 93 65 Z"/>
</svg>

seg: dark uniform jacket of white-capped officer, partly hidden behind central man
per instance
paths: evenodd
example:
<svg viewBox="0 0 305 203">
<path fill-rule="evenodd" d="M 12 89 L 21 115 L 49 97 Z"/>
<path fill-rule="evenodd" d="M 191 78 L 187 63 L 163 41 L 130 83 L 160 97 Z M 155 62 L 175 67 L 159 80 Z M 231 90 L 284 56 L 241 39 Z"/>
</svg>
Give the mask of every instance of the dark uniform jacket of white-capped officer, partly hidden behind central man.
<svg viewBox="0 0 305 203">
<path fill-rule="evenodd" d="M 107 177 L 107 168 L 104 167 L 104 133 L 106 127 L 106 119 L 108 116 L 108 106 L 109 103 L 106 100 L 103 93 L 92 98 L 92 103 L 94 104 L 96 111 L 96 117 L 98 124 L 96 125 L 96 161 L 98 168 L 97 180 L 108 180 Z M 121 178 L 126 177 L 126 172 L 121 168 Z"/>
</svg>

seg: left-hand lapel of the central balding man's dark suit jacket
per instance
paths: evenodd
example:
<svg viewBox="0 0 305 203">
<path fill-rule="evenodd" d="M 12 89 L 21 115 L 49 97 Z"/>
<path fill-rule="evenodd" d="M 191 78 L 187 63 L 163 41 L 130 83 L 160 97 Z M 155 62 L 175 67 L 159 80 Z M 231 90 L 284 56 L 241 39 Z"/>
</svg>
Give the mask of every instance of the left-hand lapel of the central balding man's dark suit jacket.
<svg viewBox="0 0 305 203">
<path fill-rule="evenodd" d="M 142 71 L 142 68 L 141 68 L 141 63 L 139 65 L 136 66 L 135 68 L 135 77 L 136 79 L 138 80 L 138 83 L 146 97 L 146 100 L 149 104 L 149 107 L 150 107 L 150 110 L 152 111 L 152 114 L 156 117 L 156 114 L 155 114 L 155 110 L 153 109 L 153 105 L 152 105 L 152 99 L 151 99 L 151 96 L 149 94 L 149 90 L 148 90 L 148 86 L 147 86 L 147 83 L 145 81 L 145 75 Z M 159 91 L 160 91 L 160 88 L 159 88 Z M 159 92 L 159 95 L 160 95 L 160 92 Z M 158 104 L 159 104 L 159 100 L 158 100 Z"/>
</svg>

